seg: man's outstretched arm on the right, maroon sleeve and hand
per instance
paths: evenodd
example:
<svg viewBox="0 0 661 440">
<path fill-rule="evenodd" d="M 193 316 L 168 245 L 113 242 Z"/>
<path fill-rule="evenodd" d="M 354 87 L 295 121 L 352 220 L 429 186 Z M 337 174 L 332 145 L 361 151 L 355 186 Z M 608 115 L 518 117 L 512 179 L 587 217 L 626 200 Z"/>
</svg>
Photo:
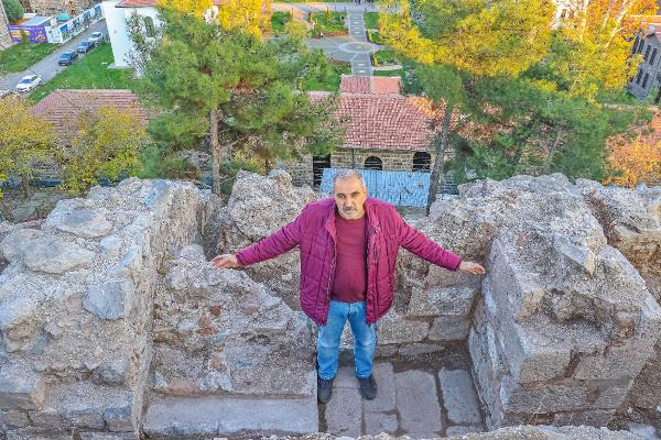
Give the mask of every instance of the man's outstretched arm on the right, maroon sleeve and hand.
<svg viewBox="0 0 661 440">
<path fill-rule="evenodd" d="M 463 271 L 472 274 L 484 274 L 486 271 L 477 263 L 463 261 L 459 255 L 443 249 L 438 243 L 425 237 L 422 232 L 407 223 L 399 213 L 400 245 L 407 251 L 448 271 Z"/>
</svg>

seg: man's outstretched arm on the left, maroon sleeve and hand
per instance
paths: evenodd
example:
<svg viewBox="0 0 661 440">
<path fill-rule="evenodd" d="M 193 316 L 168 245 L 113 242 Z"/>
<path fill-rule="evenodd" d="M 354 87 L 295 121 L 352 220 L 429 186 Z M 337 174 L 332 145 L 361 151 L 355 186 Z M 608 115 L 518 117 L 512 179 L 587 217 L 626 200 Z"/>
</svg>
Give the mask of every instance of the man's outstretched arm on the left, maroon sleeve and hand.
<svg viewBox="0 0 661 440">
<path fill-rule="evenodd" d="M 291 223 L 285 224 L 282 229 L 248 248 L 243 248 L 236 254 L 221 254 L 215 256 L 212 260 L 212 265 L 216 268 L 241 267 L 274 258 L 278 255 L 292 250 L 301 241 L 302 217 L 303 213 L 296 217 Z"/>
</svg>

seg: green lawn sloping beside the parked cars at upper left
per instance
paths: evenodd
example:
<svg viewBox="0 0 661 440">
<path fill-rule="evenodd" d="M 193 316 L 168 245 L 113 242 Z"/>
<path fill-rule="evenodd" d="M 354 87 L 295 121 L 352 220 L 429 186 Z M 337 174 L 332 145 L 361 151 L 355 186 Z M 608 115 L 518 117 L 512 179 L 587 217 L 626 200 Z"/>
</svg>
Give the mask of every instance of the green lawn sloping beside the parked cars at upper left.
<svg viewBox="0 0 661 440">
<path fill-rule="evenodd" d="M 130 89 L 133 86 L 132 69 L 109 69 L 113 62 L 110 44 L 88 52 L 73 65 L 55 75 L 45 85 L 30 94 L 30 100 L 37 102 L 55 89 Z"/>
</svg>

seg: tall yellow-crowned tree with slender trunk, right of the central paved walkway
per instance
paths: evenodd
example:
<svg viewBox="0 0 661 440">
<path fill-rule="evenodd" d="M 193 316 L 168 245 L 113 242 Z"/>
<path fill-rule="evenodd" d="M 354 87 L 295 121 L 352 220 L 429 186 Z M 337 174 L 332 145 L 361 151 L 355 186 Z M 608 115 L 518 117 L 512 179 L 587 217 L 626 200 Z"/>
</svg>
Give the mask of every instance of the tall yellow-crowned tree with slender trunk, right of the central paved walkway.
<svg viewBox="0 0 661 440">
<path fill-rule="evenodd" d="M 549 51 L 554 7 L 550 0 L 391 0 L 387 6 L 400 12 L 380 18 L 386 44 L 422 65 L 424 92 L 443 116 L 429 212 L 448 156 L 452 116 L 474 106 L 468 90 L 472 77 L 517 77 L 542 61 Z"/>
</svg>

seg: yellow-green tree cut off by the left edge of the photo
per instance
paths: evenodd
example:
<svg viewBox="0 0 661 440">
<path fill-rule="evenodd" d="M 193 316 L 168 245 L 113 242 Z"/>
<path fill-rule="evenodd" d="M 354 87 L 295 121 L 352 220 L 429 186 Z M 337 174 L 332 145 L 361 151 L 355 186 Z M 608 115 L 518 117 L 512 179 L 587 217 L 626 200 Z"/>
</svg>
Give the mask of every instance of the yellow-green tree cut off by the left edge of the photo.
<svg viewBox="0 0 661 440">
<path fill-rule="evenodd" d="M 25 99 L 17 96 L 0 99 L 0 182 L 19 177 L 24 195 L 29 197 L 33 163 L 51 154 L 53 127 L 41 117 L 32 114 Z M 1 187 L 0 208 L 3 216 L 8 217 L 2 205 Z"/>
</svg>

